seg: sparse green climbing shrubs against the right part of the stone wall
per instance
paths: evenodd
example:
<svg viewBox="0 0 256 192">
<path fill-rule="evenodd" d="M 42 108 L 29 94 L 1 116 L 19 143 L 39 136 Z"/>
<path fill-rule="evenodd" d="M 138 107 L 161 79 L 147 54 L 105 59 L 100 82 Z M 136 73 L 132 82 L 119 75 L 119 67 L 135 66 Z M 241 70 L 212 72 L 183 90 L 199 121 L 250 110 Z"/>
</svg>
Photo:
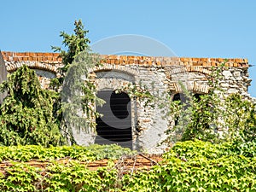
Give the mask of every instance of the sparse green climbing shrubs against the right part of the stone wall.
<svg viewBox="0 0 256 192">
<path fill-rule="evenodd" d="M 178 119 L 178 124 L 167 131 L 170 135 L 166 140 L 168 143 L 193 139 L 212 143 L 255 141 L 256 104 L 240 94 L 224 94 L 219 87 L 223 68 L 224 65 L 212 67 L 210 89 L 200 99 L 191 96 L 184 87 L 186 103 L 172 102 L 170 97 L 171 115 Z"/>
</svg>

